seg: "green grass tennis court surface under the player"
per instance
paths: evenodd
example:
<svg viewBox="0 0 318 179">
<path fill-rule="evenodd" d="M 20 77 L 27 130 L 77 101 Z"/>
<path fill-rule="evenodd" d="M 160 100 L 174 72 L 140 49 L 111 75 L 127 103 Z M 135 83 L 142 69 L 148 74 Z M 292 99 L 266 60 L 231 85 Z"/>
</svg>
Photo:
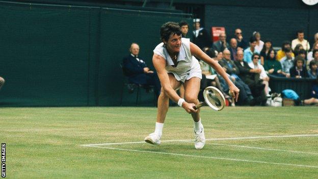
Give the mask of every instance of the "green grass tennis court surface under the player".
<svg viewBox="0 0 318 179">
<path fill-rule="evenodd" d="M 0 114 L 8 178 L 318 178 L 318 168 L 282 165 L 318 167 L 318 136 L 208 140 L 202 150 L 178 141 L 100 146 L 124 149 L 115 150 L 81 145 L 143 141 L 154 131 L 156 108 L 1 108 Z M 201 119 L 207 139 L 318 134 L 316 107 L 204 107 Z M 176 139 L 193 139 L 193 122 L 172 107 L 162 140 Z"/>
</svg>

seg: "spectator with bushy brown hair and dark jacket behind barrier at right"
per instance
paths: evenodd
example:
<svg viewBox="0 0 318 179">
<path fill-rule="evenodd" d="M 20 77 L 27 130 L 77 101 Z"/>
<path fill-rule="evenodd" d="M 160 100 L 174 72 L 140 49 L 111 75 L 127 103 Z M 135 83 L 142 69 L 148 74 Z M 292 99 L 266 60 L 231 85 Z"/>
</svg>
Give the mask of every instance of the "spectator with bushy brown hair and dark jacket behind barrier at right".
<svg viewBox="0 0 318 179">
<path fill-rule="evenodd" d="M 292 78 L 308 78 L 308 71 L 304 67 L 305 59 L 301 56 L 295 57 L 294 66 L 289 69 L 290 77 Z"/>
</svg>

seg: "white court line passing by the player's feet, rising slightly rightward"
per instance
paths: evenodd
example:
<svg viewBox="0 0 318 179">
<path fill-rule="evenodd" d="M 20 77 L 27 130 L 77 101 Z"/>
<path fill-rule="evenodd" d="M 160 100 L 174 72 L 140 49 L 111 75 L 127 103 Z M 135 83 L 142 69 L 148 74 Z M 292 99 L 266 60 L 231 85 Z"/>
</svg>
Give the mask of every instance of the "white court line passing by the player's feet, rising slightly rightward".
<svg viewBox="0 0 318 179">
<path fill-rule="evenodd" d="M 285 135 L 285 136 L 234 137 L 234 138 L 216 138 L 216 139 L 206 139 L 206 140 L 266 139 L 266 138 L 310 137 L 310 136 L 318 136 L 318 134 Z M 193 139 L 162 140 L 161 142 L 186 142 L 186 141 L 193 141 Z M 82 145 L 82 146 L 122 145 L 122 144 L 138 144 L 138 143 L 145 143 L 145 141 L 138 141 L 138 142 L 118 142 L 118 143 L 101 143 L 101 144 L 84 144 L 84 145 Z"/>
</svg>

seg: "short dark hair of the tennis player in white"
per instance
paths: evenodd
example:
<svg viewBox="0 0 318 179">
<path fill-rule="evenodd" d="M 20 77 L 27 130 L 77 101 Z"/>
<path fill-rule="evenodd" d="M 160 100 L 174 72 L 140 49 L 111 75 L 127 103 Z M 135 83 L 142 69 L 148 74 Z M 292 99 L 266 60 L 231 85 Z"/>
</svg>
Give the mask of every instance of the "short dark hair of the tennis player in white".
<svg viewBox="0 0 318 179">
<path fill-rule="evenodd" d="M 171 35 L 181 35 L 181 29 L 177 22 L 167 22 L 160 28 L 160 38 L 168 41 Z"/>
</svg>

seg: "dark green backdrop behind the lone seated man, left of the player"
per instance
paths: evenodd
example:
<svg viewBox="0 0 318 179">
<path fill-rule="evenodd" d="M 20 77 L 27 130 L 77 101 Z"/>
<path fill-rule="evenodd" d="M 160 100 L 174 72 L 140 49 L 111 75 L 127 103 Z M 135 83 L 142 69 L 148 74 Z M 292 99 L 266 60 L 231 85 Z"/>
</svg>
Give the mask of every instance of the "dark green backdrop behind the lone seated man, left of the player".
<svg viewBox="0 0 318 179">
<path fill-rule="evenodd" d="M 118 106 L 131 42 L 152 67 L 166 21 L 181 14 L 0 3 L 2 106 Z M 142 102 L 152 104 L 143 92 Z M 124 105 L 135 95 L 124 93 Z"/>
</svg>

